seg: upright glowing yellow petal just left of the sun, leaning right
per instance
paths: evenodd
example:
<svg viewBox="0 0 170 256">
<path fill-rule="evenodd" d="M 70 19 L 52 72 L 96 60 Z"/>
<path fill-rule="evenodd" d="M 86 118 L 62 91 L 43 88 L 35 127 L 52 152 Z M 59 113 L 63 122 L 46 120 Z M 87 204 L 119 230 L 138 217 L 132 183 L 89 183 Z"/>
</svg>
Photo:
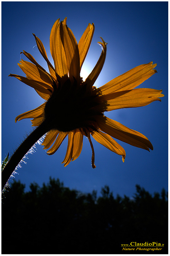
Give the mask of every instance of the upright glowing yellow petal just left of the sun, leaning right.
<svg viewBox="0 0 170 256">
<path fill-rule="evenodd" d="M 91 25 L 89 23 L 89 25 L 87 26 L 86 30 L 84 31 L 84 33 L 78 43 L 79 55 L 80 55 L 80 70 L 81 70 L 83 62 L 86 58 L 87 52 L 89 50 L 94 31 L 95 31 L 94 24 L 92 23 L 92 25 Z"/>
</svg>

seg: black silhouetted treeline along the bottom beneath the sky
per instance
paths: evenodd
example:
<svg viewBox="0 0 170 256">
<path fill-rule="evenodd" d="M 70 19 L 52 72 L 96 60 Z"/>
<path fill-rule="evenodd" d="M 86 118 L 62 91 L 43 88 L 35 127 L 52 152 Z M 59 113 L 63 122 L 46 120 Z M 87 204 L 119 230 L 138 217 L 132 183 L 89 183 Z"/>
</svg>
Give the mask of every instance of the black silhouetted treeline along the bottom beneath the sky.
<svg viewBox="0 0 170 256">
<path fill-rule="evenodd" d="M 2 254 L 150 254 L 121 244 L 158 242 L 168 253 L 168 193 L 152 196 L 139 185 L 132 198 L 108 186 L 83 194 L 50 177 L 30 191 L 14 181 L 2 199 Z"/>
</svg>

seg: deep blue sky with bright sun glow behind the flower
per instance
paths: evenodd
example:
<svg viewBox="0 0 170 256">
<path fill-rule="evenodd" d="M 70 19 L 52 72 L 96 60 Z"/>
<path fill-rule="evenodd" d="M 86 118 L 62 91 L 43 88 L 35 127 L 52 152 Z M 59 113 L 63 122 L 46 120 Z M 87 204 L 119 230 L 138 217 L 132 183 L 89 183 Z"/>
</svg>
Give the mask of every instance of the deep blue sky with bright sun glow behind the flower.
<svg viewBox="0 0 170 256">
<path fill-rule="evenodd" d="M 20 52 L 26 50 L 47 70 L 45 60 L 36 48 L 35 33 L 43 42 L 52 62 L 49 36 L 53 23 L 67 17 L 67 25 L 79 41 L 88 23 L 94 23 L 95 32 L 84 71 L 90 73 L 101 54 L 97 44 L 100 37 L 106 41 L 106 61 L 96 86 L 100 87 L 134 68 L 153 61 L 157 63 L 155 75 L 139 87 L 162 89 L 165 97 L 141 108 L 126 108 L 107 112 L 106 116 L 144 134 L 154 150 L 135 148 L 119 142 L 126 151 L 114 154 L 92 140 L 96 169 L 91 167 L 91 148 L 84 137 L 79 158 L 64 167 L 61 162 L 67 149 L 64 140 L 54 155 L 47 155 L 43 146 L 29 154 L 27 164 L 18 169 L 15 179 L 40 186 L 49 176 L 59 178 L 64 186 L 82 192 L 97 190 L 108 185 L 120 196 L 132 196 L 139 184 L 150 193 L 168 190 L 168 2 L 2 2 L 2 160 L 13 153 L 33 128 L 30 119 L 15 123 L 18 114 L 38 107 L 43 100 L 34 89 L 10 73 L 23 75 L 17 63 L 26 59 Z M 35 46 L 35 47 L 34 47 Z"/>
</svg>

